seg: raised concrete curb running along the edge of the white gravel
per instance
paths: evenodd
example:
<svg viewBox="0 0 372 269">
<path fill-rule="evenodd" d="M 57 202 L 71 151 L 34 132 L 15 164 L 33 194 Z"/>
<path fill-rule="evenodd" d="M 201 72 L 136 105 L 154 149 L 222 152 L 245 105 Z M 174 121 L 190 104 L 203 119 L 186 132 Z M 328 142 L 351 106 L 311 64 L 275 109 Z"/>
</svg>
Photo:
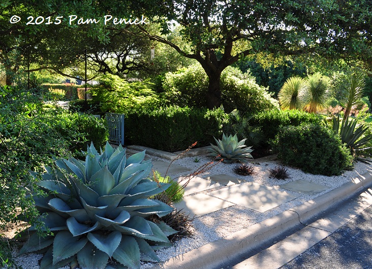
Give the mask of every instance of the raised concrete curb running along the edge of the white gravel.
<svg viewBox="0 0 372 269">
<path fill-rule="evenodd" d="M 257 251 L 264 244 L 280 237 L 296 226 L 302 226 L 324 211 L 356 195 L 372 185 L 372 172 L 348 182 L 304 204 L 286 210 L 274 217 L 239 230 L 231 236 L 211 242 L 187 253 L 157 264 L 155 268 L 215 268 L 247 252 Z"/>
</svg>

